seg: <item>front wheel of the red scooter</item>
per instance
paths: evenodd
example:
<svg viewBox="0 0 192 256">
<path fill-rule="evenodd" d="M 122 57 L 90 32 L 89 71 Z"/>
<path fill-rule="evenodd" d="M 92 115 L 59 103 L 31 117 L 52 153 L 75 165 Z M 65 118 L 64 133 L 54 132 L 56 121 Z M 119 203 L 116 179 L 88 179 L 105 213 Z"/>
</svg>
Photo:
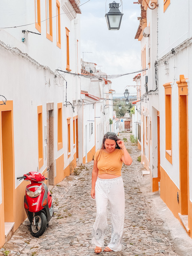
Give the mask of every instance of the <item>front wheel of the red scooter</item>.
<svg viewBox="0 0 192 256">
<path fill-rule="evenodd" d="M 43 235 L 47 225 L 47 219 L 43 212 L 36 213 L 30 225 L 31 234 L 35 237 Z"/>
</svg>

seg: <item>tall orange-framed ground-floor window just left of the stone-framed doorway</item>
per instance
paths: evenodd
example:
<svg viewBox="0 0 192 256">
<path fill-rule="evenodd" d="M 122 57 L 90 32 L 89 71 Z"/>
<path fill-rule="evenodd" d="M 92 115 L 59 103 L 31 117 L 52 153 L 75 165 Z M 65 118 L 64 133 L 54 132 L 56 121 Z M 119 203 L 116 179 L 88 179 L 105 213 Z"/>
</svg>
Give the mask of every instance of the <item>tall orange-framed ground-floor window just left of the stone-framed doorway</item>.
<svg viewBox="0 0 192 256">
<path fill-rule="evenodd" d="M 42 106 L 37 107 L 37 125 L 38 125 L 38 162 L 39 169 L 43 166 L 43 118 Z"/>
</svg>

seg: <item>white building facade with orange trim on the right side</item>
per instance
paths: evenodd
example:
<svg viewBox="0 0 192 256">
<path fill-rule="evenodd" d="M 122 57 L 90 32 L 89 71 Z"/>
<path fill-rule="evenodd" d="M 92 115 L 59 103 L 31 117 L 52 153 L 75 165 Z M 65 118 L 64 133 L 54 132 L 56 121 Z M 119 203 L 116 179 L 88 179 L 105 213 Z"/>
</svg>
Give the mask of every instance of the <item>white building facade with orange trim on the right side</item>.
<svg viewBox="0 0 192 256">
<path fill-rule="evenodd" d="M 178 0 L 159 1 L 153 10 L 145 1 L 139 3 L 136 39 L 141 41 L 142 67 L 148 68 L 141 76 L 141 161 L 150 171 L 152 191 L 160 190 L 191 235 L 192 3 L 184 1 L 180 8 Z"/>
</svg>

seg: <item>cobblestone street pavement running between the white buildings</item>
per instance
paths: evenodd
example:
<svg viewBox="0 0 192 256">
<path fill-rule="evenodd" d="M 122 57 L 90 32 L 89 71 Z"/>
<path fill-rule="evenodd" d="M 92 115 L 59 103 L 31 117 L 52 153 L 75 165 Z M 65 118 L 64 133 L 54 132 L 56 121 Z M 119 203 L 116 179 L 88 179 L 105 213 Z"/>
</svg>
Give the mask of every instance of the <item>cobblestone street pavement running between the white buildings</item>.
<svg viewBox="0 0 192 256">
<path fill-rule="evenodd" d="M 121 139 L 130 141 L 129 137 L 130 133 L 120 134 Z M 154 212 L 153 200 L 149 196 L 152 193 L 146 192 L 142 182 L 144 168 L 137 161 L 140 151 L 131 142 L 125 144 L 133 163 L 122 168 L 126 195 L 123 250 L 100 255 L 185 255 L 176 253 L 174 239 L 160 215 Z M 80 175 L 70 175 L 52 189 L 55 215 L 41 237 L 30 235 L 29 222 L 25 220 L 1 251 L 9 250 L 9 255 L 21 256 L 95 255 L 94 246 L 90 244 L 96 216 L 95 200 L 90 196 L 92 168 L 93 161 L 79 169 Z M 110 241 L 109 215 L 108 220 L 106 245 Z"/>
</svg>

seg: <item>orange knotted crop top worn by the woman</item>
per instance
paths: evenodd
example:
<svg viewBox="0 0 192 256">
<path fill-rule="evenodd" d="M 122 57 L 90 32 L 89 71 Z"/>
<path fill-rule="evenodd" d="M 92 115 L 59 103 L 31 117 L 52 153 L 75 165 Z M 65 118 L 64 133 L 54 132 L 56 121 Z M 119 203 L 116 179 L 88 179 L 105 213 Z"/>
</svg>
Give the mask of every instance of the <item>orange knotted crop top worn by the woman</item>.
<svg viewBox="0 0 192 256">
<path fill-rule="evenodd" d="M 97 150 L 94 160 L 97 161 L 98 174 L 108 173 L 121 175 L 121 167 L 123 164 L 121 156 L 123 155 L 123 150 L 118 148 L 111 153 L 105 153 L 103 149 Z"/>
</svg>

